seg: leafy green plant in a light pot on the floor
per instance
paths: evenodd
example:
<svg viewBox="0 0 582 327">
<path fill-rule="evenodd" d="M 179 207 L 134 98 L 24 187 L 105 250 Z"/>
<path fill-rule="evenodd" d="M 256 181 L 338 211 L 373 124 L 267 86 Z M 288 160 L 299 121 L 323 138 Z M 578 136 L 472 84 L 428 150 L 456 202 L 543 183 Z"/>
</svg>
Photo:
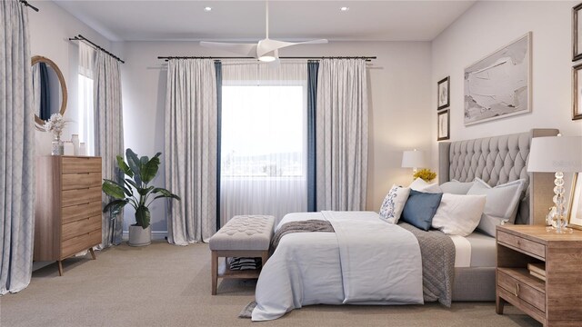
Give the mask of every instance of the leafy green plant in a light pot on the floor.
<svg viewBox="0 0 582 327">
<path fill-rule="evenodd" d="M 135 223 L 129 226 L 128 244 L 131 246 L 144 246 L 151 243 L 149 205 L 154 200 L 159 198 L 180 200 L 179 196 L 164 188 L 148 185 L 156 177 L 161 154 L 157 153 L 152 159 L 147 156 L 139 158 L 128 148 L 125 150 L 127 163 L 121 155 L 117 155 L 117 165 L 129 178 L 125 178 L 123 184 L 108 179 L 103 180 L 103 192 L 114 198 L 105 205 L 104 213 L 107 210 L 119 213 L 125 204 L 131 204 L 135 209 Z M 154 196 L 153 199 L 152 196 Z"/>
</svg>

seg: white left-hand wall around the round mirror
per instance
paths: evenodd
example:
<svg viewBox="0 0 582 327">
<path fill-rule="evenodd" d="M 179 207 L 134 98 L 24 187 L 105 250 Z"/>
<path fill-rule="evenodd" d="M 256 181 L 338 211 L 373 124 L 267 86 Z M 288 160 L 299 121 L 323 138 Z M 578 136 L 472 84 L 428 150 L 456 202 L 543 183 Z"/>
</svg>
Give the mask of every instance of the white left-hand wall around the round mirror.
<svg viewBox="0 0 582 327">
<path fill-rule="evenodd" d="M 63 133 L 64 140 L 70 140 L 71 134 L 76 134 L 78 125 L 77 114 L 77 69 L 78 45 L 77 41 L 69 41 L 69 37 L 83 35 L 89 40 L 110 48 L 111 43 L 95 30 L 85 25 L 73 15 L 61 9 L 51 1 L 29 1 L 40 11 L 28 9 L 28 23 L 30 27 L 30 47 L 32 55 L 42 55 L 58 65 L 65 77 L 68 91 L 68 101 L 65 119 L 71 121 Z M 45 132 L 35 132 L 36 155 L 51 153 L 52 135 Z"/>
</svg>

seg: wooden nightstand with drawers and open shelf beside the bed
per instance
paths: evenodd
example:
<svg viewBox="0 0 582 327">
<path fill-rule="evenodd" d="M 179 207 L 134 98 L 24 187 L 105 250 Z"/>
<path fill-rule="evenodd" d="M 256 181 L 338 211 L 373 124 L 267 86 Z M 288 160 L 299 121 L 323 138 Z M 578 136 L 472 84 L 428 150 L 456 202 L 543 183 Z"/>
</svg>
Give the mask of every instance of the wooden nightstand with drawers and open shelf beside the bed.
<svg viewBox="0 0 582 327">
<path fill-rule="evenodd" d="M 546 281 L 527 263 L 543 263 Z M 496 312 L 505 302 L 544 326 L 582 326 L 582 231 L 547 233 L 541 225 L 497 226 Z"/>
</svg>

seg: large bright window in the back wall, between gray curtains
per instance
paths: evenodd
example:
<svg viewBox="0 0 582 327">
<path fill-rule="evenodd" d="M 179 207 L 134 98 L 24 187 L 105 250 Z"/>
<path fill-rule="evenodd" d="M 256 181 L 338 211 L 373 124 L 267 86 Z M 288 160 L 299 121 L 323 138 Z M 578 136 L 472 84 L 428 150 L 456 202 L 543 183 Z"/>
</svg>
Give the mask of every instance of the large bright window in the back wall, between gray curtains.
<svg viewBox="0 0 582 327">
<path fill-rule="evenodd" d="M 305 85 L 226 85 L 222 92 L 221 175 L 305 178 Z"/>
</svg>

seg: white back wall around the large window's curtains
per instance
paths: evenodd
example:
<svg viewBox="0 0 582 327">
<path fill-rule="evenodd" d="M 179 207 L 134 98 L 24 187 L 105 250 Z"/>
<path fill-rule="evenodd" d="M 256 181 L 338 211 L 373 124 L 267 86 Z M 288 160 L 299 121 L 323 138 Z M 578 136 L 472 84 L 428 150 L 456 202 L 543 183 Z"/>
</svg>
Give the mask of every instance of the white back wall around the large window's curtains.
<svg viewBox="0 0 582 327">
<path fill-rule="evenodd" d="M 166 65 L 158 55 L 224 55 L 194 42 L 128 42 L 118 49 L 123 65 L 125 147 L 137 154 L 164 152 Z M 235 54 L 236 55 L 236 54 Z M 377 211 L 392 183 L 409 183 L 400 168 L 402 151 L 429 150 L 430 44 L 427 42 L 338 42 L 285 49 L 285 55 L 376 55 L 369 69 L 368 210 Z M 163 154 L 164 155 L 164 154 Z M 164 184 L 164 167 L 155 183 Z M 166 231 L 164 203 L 152 207 L 153 231 Z"/>
</svg>

